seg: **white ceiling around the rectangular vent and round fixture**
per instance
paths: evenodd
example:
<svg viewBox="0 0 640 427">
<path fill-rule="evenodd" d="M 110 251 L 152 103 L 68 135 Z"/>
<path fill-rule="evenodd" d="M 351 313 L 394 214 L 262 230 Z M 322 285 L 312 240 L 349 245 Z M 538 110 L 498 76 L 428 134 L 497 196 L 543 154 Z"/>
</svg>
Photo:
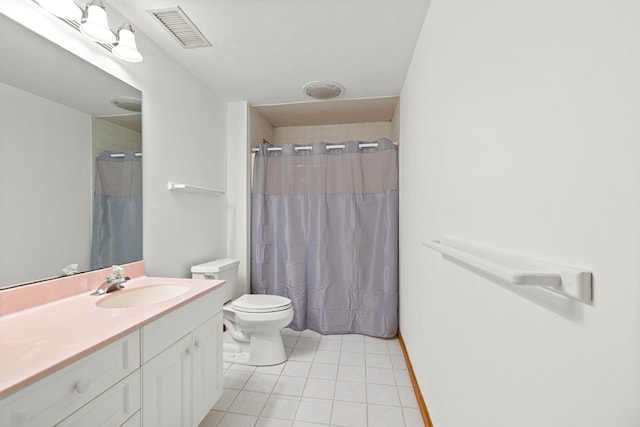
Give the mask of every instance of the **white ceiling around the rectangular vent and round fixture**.
<svg viewBox="0 0 640 427">
<path fill-rule="evenodd" d="M 262 105 L 309 101 L 302 86 L 325 79 L 345 87 L 340 99 L 399 95 L 429 0 L 109 0 L 108 4 L 223 100 Z M 212 46 L 184 49 L 147 12 L 176 5 Z"/>
</svg>

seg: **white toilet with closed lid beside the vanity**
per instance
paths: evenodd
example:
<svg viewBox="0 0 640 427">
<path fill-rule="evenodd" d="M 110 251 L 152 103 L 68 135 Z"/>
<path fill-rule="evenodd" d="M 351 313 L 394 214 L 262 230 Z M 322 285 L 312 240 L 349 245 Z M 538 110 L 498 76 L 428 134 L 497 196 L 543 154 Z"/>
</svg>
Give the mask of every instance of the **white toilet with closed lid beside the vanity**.
<svg viewBox="0 0 640 427">
<path fill-rule="evenodd" d="M 291 300 L 279 295 L 244 294 L 234 300 L 238 283 L 236 259 L 222 258 L 191 267 L 194 279 L 226 280 L 223 360 L 243 365 L 277 365 L 287 360 L 280 330 L 293 319 Z"/>
</svg>

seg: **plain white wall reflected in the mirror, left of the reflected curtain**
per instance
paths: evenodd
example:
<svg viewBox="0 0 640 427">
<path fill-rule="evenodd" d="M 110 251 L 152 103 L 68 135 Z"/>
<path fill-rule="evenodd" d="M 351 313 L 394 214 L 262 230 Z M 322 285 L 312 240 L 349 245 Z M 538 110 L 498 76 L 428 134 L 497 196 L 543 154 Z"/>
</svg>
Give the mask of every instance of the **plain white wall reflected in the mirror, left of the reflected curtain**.
<svg viewBox="0 0 640 427">
<path fill-rule="evenodd" d="M 0 287 L 89 269 L 92 182 L 91 117 L 0 83 Z"/>
</svg>

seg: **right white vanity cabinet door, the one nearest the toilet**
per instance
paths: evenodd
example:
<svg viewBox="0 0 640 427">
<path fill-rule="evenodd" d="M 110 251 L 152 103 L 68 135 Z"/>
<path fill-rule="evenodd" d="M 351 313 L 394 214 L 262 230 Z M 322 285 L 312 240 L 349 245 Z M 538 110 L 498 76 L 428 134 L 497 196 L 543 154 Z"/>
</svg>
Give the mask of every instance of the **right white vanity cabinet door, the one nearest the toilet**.
<svg viewBox="0 0 640 427">
<path fill-rule="evenodd" d="M 222 313 L 193 331 L 193 425 L 222 396 Z"/>
</svg>

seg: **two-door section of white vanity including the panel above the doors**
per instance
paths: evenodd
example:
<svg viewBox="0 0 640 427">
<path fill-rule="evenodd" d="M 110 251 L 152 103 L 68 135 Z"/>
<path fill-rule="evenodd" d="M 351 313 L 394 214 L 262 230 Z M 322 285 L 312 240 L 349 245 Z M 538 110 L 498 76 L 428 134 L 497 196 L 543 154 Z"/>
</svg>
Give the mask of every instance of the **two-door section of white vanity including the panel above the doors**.
<svg viewBox="0 0 640 427">
<path fill-rule="evenodd" d="M 211 317 L 212 303 L 205 296 L 142 328 L 143 426 L 196 426 L 222 395 L 222 303 Z"/>
</svg>

